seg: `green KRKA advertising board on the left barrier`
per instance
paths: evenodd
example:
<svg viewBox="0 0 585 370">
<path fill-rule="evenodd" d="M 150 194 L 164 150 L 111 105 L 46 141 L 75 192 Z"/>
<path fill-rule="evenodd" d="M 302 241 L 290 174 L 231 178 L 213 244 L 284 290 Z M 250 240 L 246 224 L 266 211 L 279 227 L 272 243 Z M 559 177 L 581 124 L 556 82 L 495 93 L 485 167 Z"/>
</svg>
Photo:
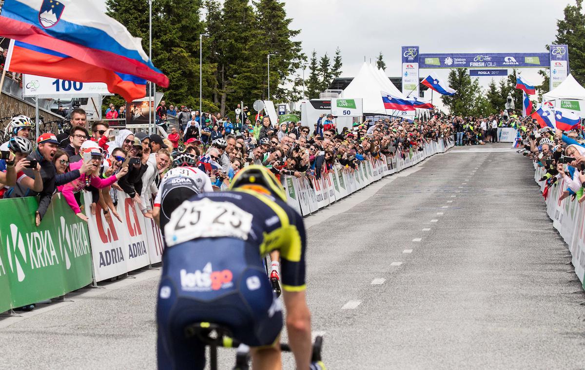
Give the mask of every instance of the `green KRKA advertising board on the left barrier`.
<svg viewBox="0 0 585 370">
<path fill-rule="evenodd" d="M 36 198 L 0 200 L 0 311 L 91 283 L 90 234 L 60 195 L 36 227 Z"/>
</svg>

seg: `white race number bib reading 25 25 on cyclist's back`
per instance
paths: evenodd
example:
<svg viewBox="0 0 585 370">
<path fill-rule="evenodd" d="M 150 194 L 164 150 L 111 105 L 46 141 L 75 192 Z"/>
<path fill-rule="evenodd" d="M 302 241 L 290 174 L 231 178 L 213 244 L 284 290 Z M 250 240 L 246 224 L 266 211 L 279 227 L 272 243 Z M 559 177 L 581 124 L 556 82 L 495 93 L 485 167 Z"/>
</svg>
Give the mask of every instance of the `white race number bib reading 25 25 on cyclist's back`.
<svg viewBox="0 0 585 370">
<path fill-rule="evenodd" d="M 164 228 L 167 246 L 197 238 L 248 238 L 253 215 L 229 202 L 208 198 L 185 201 Z"/>
</svg>

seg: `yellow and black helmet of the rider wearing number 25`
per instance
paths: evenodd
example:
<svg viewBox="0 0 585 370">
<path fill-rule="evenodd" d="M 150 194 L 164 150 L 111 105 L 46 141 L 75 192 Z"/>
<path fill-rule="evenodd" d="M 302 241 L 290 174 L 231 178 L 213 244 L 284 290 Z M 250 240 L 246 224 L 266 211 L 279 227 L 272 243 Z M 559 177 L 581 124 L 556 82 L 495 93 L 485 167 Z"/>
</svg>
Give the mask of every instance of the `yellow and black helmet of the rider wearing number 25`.
<svg viewBox="0 0 585 370">
<path fill-rule="evenodd" d="M 287 201 L 287 193 L 284 187 L 274 175 L 264 166 L 251 165 L 244 167 L 233 177 L 229 190 L 252 189 L 257 191 L 257 186 L 266 189 L 273 197 Z"/>
</svg>

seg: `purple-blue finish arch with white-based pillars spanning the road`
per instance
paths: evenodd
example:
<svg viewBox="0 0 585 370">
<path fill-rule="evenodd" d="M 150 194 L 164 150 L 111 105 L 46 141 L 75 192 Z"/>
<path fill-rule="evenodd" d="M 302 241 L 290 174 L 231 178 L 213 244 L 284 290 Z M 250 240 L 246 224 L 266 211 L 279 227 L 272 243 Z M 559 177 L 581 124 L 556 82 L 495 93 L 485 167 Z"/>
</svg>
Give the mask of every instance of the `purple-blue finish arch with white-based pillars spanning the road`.
<svg viewBox="0 0 585 370">
<path fill-rule="evenodd" d="M 423 68 L 547 68 L 552 90 L 569 76 L 569 47 L 550 45 L 548 53 L 421 54 L 418 46 L 402 46 L 402 94 L 419 96 Z"/>
</svg>

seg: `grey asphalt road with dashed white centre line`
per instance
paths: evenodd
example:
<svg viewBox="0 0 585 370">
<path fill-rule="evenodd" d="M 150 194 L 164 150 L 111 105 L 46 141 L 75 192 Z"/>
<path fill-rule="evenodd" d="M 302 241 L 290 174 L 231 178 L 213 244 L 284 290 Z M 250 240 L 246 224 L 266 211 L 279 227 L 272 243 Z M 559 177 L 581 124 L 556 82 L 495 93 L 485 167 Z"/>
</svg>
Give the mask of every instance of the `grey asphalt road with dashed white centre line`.
<svg viewBox="0 0 585 370">
<path fill-rule="evenodd" d="M 306 219 L 329 369 L 585 368 L 585 294 L 508 148 L 453 148 Z M 134 276 L 0 319 L 0 369 L 155 368 L 159 271 Z"/>
</svg>

